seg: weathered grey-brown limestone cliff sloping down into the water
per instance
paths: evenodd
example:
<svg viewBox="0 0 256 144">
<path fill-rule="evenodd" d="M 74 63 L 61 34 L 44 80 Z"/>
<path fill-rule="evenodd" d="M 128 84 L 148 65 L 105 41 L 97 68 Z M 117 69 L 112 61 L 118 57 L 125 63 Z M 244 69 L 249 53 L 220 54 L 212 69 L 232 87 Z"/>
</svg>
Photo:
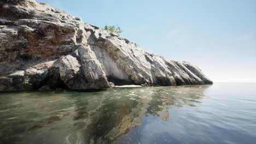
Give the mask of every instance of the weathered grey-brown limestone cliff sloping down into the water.
<svg viewBox="0 0 256 144">
<path fill-rule="evenodd" d="M 34 0 L 0 2 L 0 91 L 114 85 L 204 85 L 188 62 L 142 50 L 116 33 Z"/>
</svg>

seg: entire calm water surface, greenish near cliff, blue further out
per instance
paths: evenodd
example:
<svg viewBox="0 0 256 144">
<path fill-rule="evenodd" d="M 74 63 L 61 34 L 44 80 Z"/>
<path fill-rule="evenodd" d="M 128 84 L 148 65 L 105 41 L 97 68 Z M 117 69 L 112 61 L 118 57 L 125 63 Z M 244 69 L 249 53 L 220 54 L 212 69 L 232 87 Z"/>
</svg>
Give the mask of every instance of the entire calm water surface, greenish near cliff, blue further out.
<svg viewBox="0 0 256 144">
<path fill-rule="evenodd" d="M 256 83 L 0 93 L 0 143 L 256 143 Z"/>
</svg>

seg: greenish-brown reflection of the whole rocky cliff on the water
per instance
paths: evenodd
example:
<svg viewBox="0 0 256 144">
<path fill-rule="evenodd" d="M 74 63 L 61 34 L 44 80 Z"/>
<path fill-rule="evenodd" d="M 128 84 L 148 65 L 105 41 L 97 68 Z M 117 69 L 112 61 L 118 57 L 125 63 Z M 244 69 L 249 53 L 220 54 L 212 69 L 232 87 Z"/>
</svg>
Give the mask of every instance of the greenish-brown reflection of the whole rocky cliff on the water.
<svg viewBox="0 0 256 144">
<path fill-rule="evenodd" d="M 147 116 L 168 121 L 171 107 L 196 106 L 208 87 L 0 93 L 0 143 L 116 142 Z"/>
</svg>

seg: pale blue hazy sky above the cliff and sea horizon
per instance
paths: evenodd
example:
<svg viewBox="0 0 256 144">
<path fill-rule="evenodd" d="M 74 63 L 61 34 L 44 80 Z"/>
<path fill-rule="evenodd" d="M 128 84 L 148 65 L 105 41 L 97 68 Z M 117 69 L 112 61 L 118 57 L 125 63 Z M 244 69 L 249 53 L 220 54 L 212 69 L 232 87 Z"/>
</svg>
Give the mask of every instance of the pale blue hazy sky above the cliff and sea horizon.
<svg viewBox="0 0 256 144">
<path fill-rule="evenodd" d="M 142 49 L 188 61 L 214 82 L 256 82 L 254 0 L 40 0 L 104 28 Z"/>
</svg>

